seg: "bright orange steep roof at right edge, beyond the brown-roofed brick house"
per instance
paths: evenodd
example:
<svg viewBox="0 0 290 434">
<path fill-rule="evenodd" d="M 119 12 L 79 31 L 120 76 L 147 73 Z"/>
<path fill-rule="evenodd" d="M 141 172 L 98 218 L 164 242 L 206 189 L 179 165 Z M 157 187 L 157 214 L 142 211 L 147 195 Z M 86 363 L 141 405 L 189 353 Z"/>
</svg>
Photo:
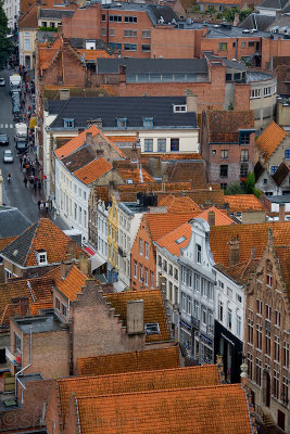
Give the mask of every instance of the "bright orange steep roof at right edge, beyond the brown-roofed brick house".
<svg viewBox="0 0 290 434">
<path fill-rule="evenodd" d="M 274 120 L 264 129 L 256 140 L 256 145 L 267 161 L 286 138 L 287 132 Z"/>
</svg>

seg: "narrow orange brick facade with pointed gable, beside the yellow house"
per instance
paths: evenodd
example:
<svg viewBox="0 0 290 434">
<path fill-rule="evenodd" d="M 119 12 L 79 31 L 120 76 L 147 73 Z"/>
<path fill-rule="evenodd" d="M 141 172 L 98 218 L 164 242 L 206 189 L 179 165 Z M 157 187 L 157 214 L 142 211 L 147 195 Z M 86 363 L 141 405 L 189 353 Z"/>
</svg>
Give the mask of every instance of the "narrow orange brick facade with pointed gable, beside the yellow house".
<svg viewBox="0 0 290 434">
<path fill-rule="evenodd" d="M 140 239 L 143 241 L 143 254 L 140 255 Z M 144 252 L 144 243 L 149 244 L 149 257 L 146 258 Z M 137 278 L 134 276 L 134 260 L 137 260 Z M 140 282 L 140 265 L 143 267 L 143 279 L 144 279 L 144 269 L 148 268 L 148 286 L 144 286 L 143 283 Z M 155 247 L 152 244 L 152 240 L 150 233 L 148 231 L 147 224 L 144 222 L 144 218 L 142 218 L 139 230 L 137 232 L 137 237 L 135 239 L 133 248 L 131 248 L 131 289 L 133 290 L 141 290 L 141 289 L 150 289 L 150 271 L 154 272 L 154 288 L 156 285 L 156 253 Z"/>
</svg>

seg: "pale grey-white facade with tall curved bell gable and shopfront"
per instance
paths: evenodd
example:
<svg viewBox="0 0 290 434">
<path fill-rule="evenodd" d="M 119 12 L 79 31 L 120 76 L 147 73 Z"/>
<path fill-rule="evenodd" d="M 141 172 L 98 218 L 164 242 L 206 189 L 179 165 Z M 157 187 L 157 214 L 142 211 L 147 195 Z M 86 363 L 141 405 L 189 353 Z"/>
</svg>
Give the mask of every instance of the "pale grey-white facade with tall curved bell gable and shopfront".
<svg viewBox="0 0 290 434">
<path fill-rule="evenodd" d="M 180 250 L 179 342 L 201 365 L 214 359 L 215 270 L 210 248 L 210 226 L 191 220 L 191 238 Z"/>
</svg>

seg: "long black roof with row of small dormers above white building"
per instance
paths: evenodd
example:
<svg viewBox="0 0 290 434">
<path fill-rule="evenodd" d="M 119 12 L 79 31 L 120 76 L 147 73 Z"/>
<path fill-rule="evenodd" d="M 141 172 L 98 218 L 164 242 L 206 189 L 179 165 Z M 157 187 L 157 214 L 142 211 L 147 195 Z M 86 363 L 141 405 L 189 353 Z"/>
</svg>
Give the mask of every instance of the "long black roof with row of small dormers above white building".
<svg viewBox="0 0 290 434">
<path fill-rule="evenodd" d="M 86 128 L 89 119 L 101 118 L 105 130 L 117 128 L 117 118 L 127 118 L 127 129 L 143 128 L 143 117 L 153 117 L 154 128 L 197 128 L 193 112 L 174 113 L 173 105 L 186 104 L 186 97 L 71 98 L 59 110 L 50 128 L 63 129 L 63 119 L 75 119 L 75 129 Z M 51 112 L 52 113 L 52 112 Z"/>
</svg>

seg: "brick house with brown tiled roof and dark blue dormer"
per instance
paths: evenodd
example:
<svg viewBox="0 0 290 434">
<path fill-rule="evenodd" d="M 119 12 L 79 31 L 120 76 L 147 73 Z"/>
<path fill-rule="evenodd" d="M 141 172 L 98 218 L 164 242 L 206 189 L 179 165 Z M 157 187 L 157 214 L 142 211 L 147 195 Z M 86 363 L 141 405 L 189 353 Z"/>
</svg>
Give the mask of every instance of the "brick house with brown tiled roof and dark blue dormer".
<svg viewBox="0 0 290 434">
<path fill-rule="evenodd" d="M 253 171 L 255 129 L 252 111 L 202 113 L 201 154 L 207 163 L 210 183 L 226 189 Z"/>
</svg>

